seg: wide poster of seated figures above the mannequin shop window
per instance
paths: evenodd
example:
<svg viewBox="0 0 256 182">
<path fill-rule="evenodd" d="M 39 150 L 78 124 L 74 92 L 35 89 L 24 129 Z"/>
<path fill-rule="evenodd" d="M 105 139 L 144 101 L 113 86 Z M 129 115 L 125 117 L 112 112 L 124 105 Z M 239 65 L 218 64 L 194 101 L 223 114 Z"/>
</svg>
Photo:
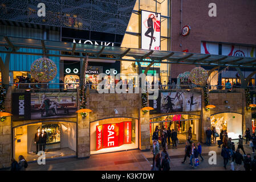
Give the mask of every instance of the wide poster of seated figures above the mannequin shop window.
<svg viewBox="0 0 256 182">
<path fill-rule="evenodd" d="M 76 92 L 31 93 L 31 119 L 74 117 Z"/>
</svg>

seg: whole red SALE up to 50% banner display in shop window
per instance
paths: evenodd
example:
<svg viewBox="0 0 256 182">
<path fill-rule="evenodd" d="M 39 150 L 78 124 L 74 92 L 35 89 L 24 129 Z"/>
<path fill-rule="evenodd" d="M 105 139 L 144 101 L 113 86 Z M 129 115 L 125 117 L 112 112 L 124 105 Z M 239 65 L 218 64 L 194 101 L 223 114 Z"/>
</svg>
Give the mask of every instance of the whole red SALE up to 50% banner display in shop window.
<svg viewBox="0 0 256 182">
<path fill-rule="evenodd" d="M 132 143 L 132 122 L 96 126 L 96 150 Z"/>
</svg>

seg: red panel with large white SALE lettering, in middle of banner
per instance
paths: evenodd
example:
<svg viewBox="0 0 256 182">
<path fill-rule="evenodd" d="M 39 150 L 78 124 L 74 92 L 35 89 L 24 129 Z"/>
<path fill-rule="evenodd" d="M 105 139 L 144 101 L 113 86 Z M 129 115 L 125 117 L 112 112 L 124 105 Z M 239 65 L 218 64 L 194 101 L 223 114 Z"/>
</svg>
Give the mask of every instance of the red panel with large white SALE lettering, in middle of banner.
<svg viewBox="0 0 256 182">
<path fill-rule="evenodd" d="M 119 123 L 103 125 L 103 148 L 119 146 Z"/>
</svg>

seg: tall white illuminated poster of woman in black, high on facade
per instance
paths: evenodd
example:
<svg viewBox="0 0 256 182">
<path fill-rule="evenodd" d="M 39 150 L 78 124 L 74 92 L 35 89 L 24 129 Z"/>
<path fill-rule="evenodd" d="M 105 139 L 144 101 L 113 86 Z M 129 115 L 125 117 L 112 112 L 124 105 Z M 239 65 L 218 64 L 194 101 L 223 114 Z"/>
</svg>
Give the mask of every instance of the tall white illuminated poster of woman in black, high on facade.
<svg viewBox="0 0 256 182">
<path fill-rule="evenodd" d="M 161 14 L 141 10 L 141 48 L 160 50 Z"/>
</svg>

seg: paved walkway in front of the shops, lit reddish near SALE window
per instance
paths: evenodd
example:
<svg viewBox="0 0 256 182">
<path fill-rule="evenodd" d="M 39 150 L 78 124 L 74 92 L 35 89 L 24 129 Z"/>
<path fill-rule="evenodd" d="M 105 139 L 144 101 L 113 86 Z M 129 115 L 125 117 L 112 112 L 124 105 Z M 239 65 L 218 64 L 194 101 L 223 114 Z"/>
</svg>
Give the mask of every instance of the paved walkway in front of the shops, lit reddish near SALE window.
<svg viewBox="0 0 256 182">
<path fill-rule="evenodd" d="M 237 143 L 237 142 L 235 142 Z M 247 153 L 252 152 L 248 144 L 244 144 L 244 148 Z M 217 152 L 217 164 L 210 165 L 208 159 L 209 151 Z M 190 167 L 189 159 L 186 160 L 185 164 L 182 164 L 184 158 L 184 144 L 178 145 L 178 148 L 172 148 L 169 146 L 168 153 L 171 158 L 171 170 L 172 171 L 184 171 L 184 170 L 208 170 L 208 171 L 223 171 L 223 158 L 220 155 L 221 148 L 218 148 L 217 144 L 213 146 L 202 146 L 202 154 L 205 158 L 204 162 L 201 162 L 197 169 L 192 169 Z M 253 154 L 252 158 L 253 158 Z M 131 150 L 123 152 L 113 152 L 109 154 L 98 154 L 91 155 L 88 159 L 58 159 L 58 160 L 48 160 L 46 165 L 38 165 L 37 163 L 29 163 L 27 170 L 106 170 L 106 171 L 149 171 L 151 169 L 150 165 L 152 163 L 151 151 L 140 151 Z M 227 170 L 230 169 L 228 164 Z"/>
</svg>

